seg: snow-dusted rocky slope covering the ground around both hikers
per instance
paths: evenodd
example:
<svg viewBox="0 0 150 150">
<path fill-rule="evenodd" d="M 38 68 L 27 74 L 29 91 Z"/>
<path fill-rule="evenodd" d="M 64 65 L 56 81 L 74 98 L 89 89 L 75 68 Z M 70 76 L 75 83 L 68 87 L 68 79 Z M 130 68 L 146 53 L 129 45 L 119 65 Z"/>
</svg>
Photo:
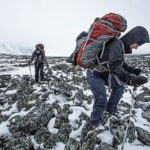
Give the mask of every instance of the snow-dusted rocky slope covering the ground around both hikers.
<svg viewBox="0 0 150 150">
<path fill-rule="evenodd" d="M 29 59 L 24 56 L 21 63 L 22 57 L 17 56 L 17 66 Z M 128 56 L 127 61 L 143 68 L 143 74 L 149 77 L 149 57 Z M 1 58 L 6 59 L 3 64 L 11 64 L 8 60 L 12 56 Z M 0 150 L 119 150 L 127 126 L 132 88 L 126 89 L 118 105 L 119 114 L 105 113 L 101 125 L 85 136 L 82 129 L 94 101 L 85 71 L 67 64 L 64 58 L 48 61 L 46 81 L 40 84 L 35 84 L 29 75 L 0 75 Z M 150 82 L 136 91 L 125 145 L 148 150 L 149 131 Z"/>
</svg>

